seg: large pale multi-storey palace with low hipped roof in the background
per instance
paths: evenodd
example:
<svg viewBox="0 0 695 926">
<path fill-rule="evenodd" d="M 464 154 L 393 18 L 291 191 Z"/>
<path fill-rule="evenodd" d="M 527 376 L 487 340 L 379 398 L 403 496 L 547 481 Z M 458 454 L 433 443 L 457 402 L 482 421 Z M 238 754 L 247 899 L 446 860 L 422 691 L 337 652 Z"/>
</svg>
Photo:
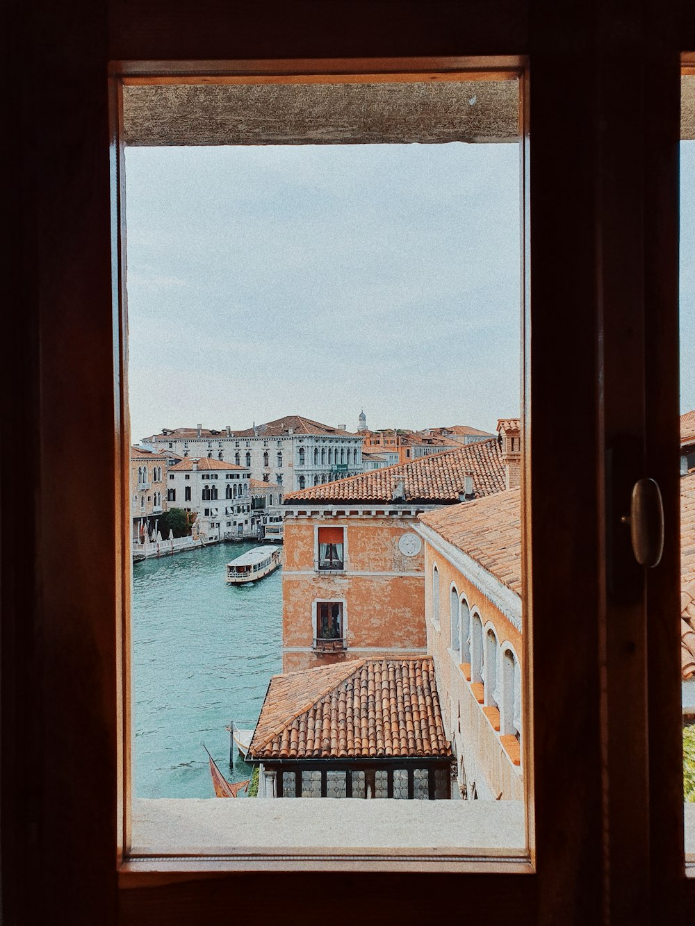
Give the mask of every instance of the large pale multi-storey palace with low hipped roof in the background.
<svg viewBox="0 0 695 926">
<path fill-rule="evenodd" d="M 284 492 L 297 491 L 343 479 L 362 471 L 359 434 L 345 426 L 289 415 L 233 432 L 196 428 L 165 429 L 144 438 L 158 453 L 174 451 L 182 457 L 232 460 L 250 470 L 259 482 L 274 482 Z"/>
</svg>

